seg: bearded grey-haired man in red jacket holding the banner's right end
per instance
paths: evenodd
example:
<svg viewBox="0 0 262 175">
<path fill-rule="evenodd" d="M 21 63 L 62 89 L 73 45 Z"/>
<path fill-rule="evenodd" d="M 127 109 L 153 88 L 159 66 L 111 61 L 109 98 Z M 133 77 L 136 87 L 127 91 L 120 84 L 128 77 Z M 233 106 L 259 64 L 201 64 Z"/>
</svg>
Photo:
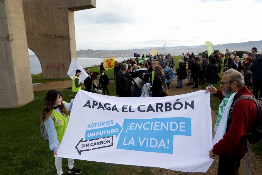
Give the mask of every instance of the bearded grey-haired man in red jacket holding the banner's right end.
<svg viewBox="0 0 262 175">
<path fill-rule="evenodd" d="M 228 94 L 237 92 L 231 107 L 240 96 L 252 96 L 247 86 L 244 86 L 243 75 L 234 69 L 224 72 L 220 88 L 222 90 L 213 86 L 206 87 L 206 91 L 214 94 L 215 97 L 221 100 Z M 252 100 L 242 99 L 234 105 L 232 121 L 228 119 L 226 134 L 209 151 L 210 158 L 215 158 L 216 155 L 219 155 L 217 174 L 239 174 L 240 160 L 244 157 L 247 150 L 246 134 L 252 128 L 255 119 L 256 104 Z"/>
</svg>

